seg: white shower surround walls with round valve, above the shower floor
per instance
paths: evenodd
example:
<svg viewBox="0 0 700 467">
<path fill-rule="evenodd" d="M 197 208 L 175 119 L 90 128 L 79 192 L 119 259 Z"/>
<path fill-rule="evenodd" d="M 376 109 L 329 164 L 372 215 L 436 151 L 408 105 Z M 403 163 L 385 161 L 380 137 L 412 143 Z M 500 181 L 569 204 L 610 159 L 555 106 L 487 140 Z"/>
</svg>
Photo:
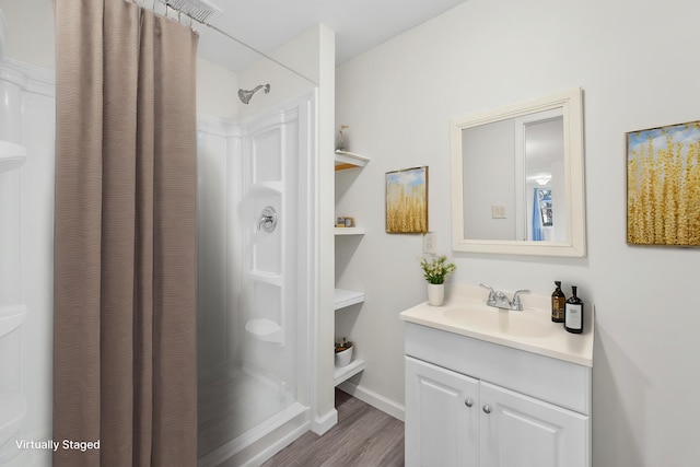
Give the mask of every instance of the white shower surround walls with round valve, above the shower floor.
<svg viewBox="0 0 700 467">
<path fill-rule="evenodd" d="M 313 248 L 304 234 L 313 218 L 312 113 L 313 94 L 306 94 L 243 124 L 198 117 L 200 382 L 244 360 L 285 381 L 300 374 L 290 358 L 298 354 L 294 343 L 300 328 L 303 334 L 308 327 L 311 307 L 303 279 Z M 278 215 L 270 233 L 258 230 L 267 206 Z M 258 331 L 254 320 L 280 331 Z"/>
</svg>

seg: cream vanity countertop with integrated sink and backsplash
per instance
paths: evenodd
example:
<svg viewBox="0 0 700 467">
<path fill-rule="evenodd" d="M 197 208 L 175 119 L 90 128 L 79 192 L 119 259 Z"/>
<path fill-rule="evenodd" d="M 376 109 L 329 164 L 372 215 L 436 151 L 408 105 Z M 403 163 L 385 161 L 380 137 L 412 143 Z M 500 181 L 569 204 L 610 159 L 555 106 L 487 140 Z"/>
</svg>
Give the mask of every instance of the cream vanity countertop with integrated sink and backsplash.
<svg viewBox="0 0 700 467">
<path fill-rule="evenodd" d="M 512 292 L 506 291 L 509 296 Z M 582 334 L 567 332 L 552 323 L 550 297 L 522 295 L 524 310 L 514 312 L 486 305 L 488 291 L 456 285 L 442 306 L 425 303 L 408 308 L 401 319 L 448 332 L 525 350 L 553 359 L 593 366 L 594 308 L 585 305 Z"/>
</svg>

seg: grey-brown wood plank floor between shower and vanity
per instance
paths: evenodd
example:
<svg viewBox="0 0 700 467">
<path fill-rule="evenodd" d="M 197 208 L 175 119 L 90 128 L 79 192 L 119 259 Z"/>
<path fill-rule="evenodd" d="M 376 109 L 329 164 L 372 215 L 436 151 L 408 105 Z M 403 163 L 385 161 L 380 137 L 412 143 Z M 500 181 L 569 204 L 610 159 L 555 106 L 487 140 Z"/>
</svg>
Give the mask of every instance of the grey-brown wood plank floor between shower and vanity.
<svg viewBox="0 0 700 467">
<path fill-rule="evenodd" d="M 307 432 L 262 467 L 398 467 L 404 422 L 336 389 L 338 424 L 322 436 Z"/>
</svg>

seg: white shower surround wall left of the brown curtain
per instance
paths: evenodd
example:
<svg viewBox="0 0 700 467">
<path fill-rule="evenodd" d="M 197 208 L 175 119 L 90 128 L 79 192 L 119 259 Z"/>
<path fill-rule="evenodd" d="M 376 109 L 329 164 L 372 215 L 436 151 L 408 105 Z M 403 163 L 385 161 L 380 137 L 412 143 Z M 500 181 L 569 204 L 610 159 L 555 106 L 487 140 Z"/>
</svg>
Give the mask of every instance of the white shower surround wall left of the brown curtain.
<svg viewBox="0 0 700 467">
<path fill-rule="evenodd" d="M 20 432 L 0 453 L 0 465 L 49 465 L 46 450 L 18 450 L 14 439 L 51 436 L 52 264 L 54 264 L 54 78 L 47 70 L 4 59 L 0 62 L 0 139 L 26 149 L 19 182 L 19 257 L 11 296 L 26 306 L 22 326 L 2 339 L 0 392 L 26 400 Z M 19 172 L 18 172 L 19 171 Z M 8 174 L 5 174 L 8 175 Z M 16 177 L 19 175 L 19 177 Z M 0 184 L 7 178 L 0 179 Z M 8 229 L 8 225 L 0 225 Z M 2 259 L 2 258 L 0 258 Z M 1 423 L 0 423 L 1 424 Z M 12 452 L 14 451 L 14 452 Z M 9 462 L 9 457 L 13 456 Z M 3 460 L 4 459 L 4 460 Z"/>
</svg>

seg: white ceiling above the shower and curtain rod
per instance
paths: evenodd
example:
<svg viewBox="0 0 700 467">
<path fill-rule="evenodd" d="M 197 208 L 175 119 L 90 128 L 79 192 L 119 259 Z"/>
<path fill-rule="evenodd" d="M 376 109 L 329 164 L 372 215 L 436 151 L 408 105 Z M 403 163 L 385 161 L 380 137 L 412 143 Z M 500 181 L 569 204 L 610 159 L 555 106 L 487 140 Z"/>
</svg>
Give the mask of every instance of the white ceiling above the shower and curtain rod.
<svg viewBox="0 0 700 467">
<path fill-rule="evenodd" d="M 466 0 L 208 0 L 219 9 L 208 23 L 270 54 L 323 23 L 336 32 L 336 63 L 421 24 Z M 234 40 L 199 26 L 200 57 L 233 71 L 259 58 Z"/>
</svg>

